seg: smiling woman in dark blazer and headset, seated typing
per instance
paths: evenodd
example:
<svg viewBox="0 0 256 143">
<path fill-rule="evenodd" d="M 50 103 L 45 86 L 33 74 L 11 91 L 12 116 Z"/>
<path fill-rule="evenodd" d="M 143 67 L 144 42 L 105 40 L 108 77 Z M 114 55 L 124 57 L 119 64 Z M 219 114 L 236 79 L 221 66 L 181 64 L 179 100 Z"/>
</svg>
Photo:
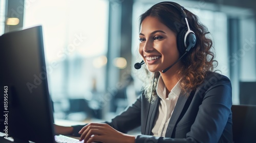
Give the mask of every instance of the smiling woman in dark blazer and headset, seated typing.
<svg viewBox="0 0 256 143">
<path fill-rule="evenodd" d="M 207 33 L 180 5 L 154 5 L 140 19 L 142 95 L 110 123 L 56 126 L 57 133 L 78 132 L 84 142 L 232 142 L 231 84 L 212 71 Z M 125 134 L 139 126 L 142 135 Z"/>
</svg>

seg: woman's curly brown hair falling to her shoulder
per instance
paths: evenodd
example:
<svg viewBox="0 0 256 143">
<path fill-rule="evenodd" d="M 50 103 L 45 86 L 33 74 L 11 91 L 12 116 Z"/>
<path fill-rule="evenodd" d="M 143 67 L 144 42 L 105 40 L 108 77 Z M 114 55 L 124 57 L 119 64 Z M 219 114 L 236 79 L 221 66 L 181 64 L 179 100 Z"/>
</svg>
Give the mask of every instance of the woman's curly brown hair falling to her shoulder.
<svg viewBox="0 0 256 143">
<path fill-rule="evenodd" d="M 170 30 L 174 31 L 176 35 L 183 29 L 186 28 L 184 17 L 181 11 L 168 3 L 164 2 L 152 6 L 145 13 L 140 16 L 140 25 L 147 16 L 158 18 L 165 26 Z M 176 3 L 175 3 L 176 4 Z M 178 4 L 176 4 L 178 5 Z M 179 6 L 179 5 L 178 5 Z M 187 20 L 189 23 L 190 30 L 194 31 L 197 41 L 193 49 L 191 49 L 182 59 L 181 68 L 178 71 L 178 77 L 180 78 L 180 85 L 182 91 L 189 93 L 191 90 L 196 89 L 207 76 L 207 71 L 213 71 L 214 67 L 218 65 L 215 59 L 214 47 L 212 46 L 212 40 L 206 36 L 208 33 L 207 27 L 205 27 L 198 19 L 198 17 L 190 11 L 184 9 Z M 178 45 L 179 46 L 179 45 Z M 185 52 L 185 47 L 178 47 Z M 180 56 L 184 53 L 180 52 Z M 160 73 L 155 74 L 155 81 L 152 82 L 154 75 L 145 68 L 144 76 L 141 79 L 144 81 L 143 90 L 147 99 L 150 99 L 151 92 L 156 96 L 156 85 Z M 154 97 L 153 97 L 154 98 Z"/>
</svg>

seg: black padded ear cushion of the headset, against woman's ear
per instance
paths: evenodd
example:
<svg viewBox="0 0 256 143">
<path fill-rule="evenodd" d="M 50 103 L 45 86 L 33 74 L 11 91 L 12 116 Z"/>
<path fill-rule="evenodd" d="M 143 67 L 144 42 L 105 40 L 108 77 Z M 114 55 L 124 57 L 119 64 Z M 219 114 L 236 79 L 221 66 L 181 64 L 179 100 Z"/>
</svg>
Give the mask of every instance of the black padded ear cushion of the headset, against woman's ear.
<svg viewBox="0 0 256 143">
<path fill-rule="evenodd" d="M 187 32 L 187 28 L 183 28 L 177 35 L 177 46 L 178 51 L 180 52 L 180 55 L 183 55 L 185 53 L 186 47 L 184 44 L 184 38 Z"/>
</svg>

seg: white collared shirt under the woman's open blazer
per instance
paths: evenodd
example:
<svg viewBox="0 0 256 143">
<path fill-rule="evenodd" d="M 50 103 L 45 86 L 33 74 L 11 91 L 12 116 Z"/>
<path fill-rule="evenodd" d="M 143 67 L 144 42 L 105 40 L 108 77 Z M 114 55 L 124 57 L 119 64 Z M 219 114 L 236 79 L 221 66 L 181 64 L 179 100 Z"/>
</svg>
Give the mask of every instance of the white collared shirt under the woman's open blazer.
<svg viewBox="0 0 256 143">
<path fill-rule="evenodd" d="M 160 76 L 157 82 L 157 95 L 161 99 L 159 104 L 159 114 L 156 118 L 155 125 L 152 129 L 152 133 L 154 136 L 165 136 L 170 117 L 173 114 L 174 107 L 179 98 L 179 94 L 181 92 L 180 82 L 178 82 L 173 89 L 168 94 L 168 98 L 166 97 L 166 87 L 163 83 L 163 79 Z"/>
</svg>

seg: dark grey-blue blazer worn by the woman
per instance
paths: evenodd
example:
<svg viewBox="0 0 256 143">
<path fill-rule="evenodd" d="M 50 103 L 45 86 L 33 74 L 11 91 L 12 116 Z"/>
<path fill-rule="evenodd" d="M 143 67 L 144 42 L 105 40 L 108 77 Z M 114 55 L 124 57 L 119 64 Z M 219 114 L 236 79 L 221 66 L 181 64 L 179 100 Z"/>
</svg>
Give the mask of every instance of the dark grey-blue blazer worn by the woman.
<svg viewBox="0 0 256 143">
<path fill-rule="evenodd" d="M 209 72 L 204 82 L 189 96 L 181 93 L 165 137 L 152 136 L 151 132 L 159 103 L 160 98 L 157 98 L 149 108 L 150 103 L 142 94 L 112 122 L 106 123 L 123 133 L 141 126 L 142 135 L 137 135 L 136 143 L 232 142 L 232 93 L 227 77 Z M 83 126 L 73 127 L 76 134 Z"/>
</svg>

